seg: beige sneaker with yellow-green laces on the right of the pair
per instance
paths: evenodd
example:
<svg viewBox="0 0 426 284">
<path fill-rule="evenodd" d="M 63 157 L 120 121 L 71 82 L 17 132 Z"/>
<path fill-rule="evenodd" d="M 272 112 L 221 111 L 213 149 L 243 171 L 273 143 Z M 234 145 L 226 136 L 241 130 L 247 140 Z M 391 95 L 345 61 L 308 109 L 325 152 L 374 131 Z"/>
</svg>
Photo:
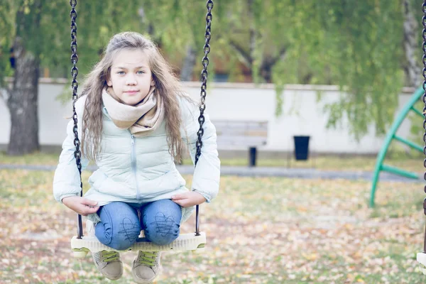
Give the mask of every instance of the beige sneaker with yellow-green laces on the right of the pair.
<svg viewBox="0 0 426 284">
<path fill-rule="evenodd" d="M 151 284 L 160 271 L 159 251 L 139 251 L 133 261 L 131 273 L 133 280 L 139 284 Z"/>
</svg>

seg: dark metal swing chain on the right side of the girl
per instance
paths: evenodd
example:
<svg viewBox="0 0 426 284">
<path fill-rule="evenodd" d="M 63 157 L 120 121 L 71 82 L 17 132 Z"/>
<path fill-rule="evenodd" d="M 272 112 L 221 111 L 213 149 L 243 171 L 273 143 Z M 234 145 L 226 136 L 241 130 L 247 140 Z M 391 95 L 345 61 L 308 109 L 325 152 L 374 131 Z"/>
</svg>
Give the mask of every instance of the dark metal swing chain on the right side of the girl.
<svg viewBox="0 0 426 284">
<path fill-rule="evenodd" d="M 426 1 L 426 0 L 425 0 Z M 200 116 L 198 117 L 198 122 L 200 123 L 200 129 L 197 131 L 197 153 L 195 154 L 195 165 L 198 163 L 198 159 L 201 155 L 202 148 L 202 135 L 204 134 L 204 129 L 202 128 L 204 124 L 204 109 L 206 109 L 206 95 L 207 95 L 207 66 L 209 65 L 209 55 L 210 52 L 210 38 L 212 36 L 212 9 L 213 1 L 207 1 L 207 14 L 206 14 L 206 33 L 204 34 L 205 43 L 204 43 L 204 58 L 202 58 L 202 72 L 201 72 L 201 104 L 200 104 Z M 195 236 L 200 236 L 200 218 L 199 218 L 200 206 L 197 205 L 195 212 Z"/>
</svg>

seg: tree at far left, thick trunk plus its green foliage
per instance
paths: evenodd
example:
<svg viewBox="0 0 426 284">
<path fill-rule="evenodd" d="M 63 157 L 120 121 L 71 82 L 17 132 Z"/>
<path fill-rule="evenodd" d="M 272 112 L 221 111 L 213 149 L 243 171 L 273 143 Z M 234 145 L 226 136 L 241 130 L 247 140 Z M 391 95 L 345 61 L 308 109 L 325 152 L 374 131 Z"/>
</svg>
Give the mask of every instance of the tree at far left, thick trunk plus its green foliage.
<svg viewBox="0 0 426 284">
<path fill-rule="evenodd" d="M 21 155 L 38 150 L 38 78 L 40 67 L 56 72 L 70 67 L 70 6 L 52 0 L 1 0 L 0 81 L 2 98 L 11 115 L 7 153 Z M 112 33 L 140 30 L 138 2 L 79 1 L 77 43 L 80 72 L 87 72 Z M 13 50 L 14 68 L 9 61 Z M 70 69 L 68 69 L 70 70 Z M 6 75 L 13 83 L 4 82 Z M 62 77 L 62 72 L 60 74 Z"/>
</svg>

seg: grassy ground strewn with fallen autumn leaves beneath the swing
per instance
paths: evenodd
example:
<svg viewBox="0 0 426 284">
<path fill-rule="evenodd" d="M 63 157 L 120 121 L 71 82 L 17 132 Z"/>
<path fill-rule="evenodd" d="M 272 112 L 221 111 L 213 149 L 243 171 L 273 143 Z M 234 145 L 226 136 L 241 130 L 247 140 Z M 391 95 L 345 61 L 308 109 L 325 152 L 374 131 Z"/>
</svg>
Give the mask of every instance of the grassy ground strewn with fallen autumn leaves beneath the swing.
<svg viewBox="0 0 426 284">
<path fill-rule="evenodd" d="M 84 180 L 89 174 L 84 173 Z M 190 176 L 186 176 L 190 182 Z M 52 197 L 52 172 L 0 170 L 0 283 L 133 283 L 72 257 L 77 216 Z M 223 177 L 201 207 L 203 254 L 164 253 L 158 283 L 426 283 L 422 184 Z M 194 218 L 182 232 L 195 229 Z"/>
</svg>

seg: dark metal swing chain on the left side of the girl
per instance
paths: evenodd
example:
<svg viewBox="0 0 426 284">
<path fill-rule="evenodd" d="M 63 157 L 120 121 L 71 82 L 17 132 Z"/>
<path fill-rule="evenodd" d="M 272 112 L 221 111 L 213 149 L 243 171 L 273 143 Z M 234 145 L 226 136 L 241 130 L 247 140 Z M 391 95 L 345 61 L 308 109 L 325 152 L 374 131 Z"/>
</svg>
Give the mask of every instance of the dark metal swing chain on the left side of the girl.
<svg viewBox="0 0 426 284">
<path fill-rule="evenodd" d="M 72 75 L 72 120 L 74 121 L 74 128 L 72 129 L 74 131 L 74 157 L 75 161 L 77 163 L 77 168 L 80 173 L 80 196 L 83 195 L 83 183 L 82 183 L 82 163 L 81 163 L 81 152 L 80 152 L 80 139 L 78 138 L 78 131 L 77 131 L 77 112 L 75 111 L 75 102 L 77 102 L 77 89 L 78 89 L 78 81 L 77 81 L 77 75 L 78 75 L 78 69 L 77 69 L 77 23 L 75 23 L 75 20 L 77 19 L 77 11 L 75 11 L 75 6 L 77 6 L 77 0 L 70 0 L 71 5 L 71 62 L 72 62 L 72 68 L 71 68 L 71 75 Z M 83 228 L 82 228 L 82 215 L 78 214 L 78 226 L 77 226 L 77 238 L 82 239 L 83 236 Z"/>
</svg>

